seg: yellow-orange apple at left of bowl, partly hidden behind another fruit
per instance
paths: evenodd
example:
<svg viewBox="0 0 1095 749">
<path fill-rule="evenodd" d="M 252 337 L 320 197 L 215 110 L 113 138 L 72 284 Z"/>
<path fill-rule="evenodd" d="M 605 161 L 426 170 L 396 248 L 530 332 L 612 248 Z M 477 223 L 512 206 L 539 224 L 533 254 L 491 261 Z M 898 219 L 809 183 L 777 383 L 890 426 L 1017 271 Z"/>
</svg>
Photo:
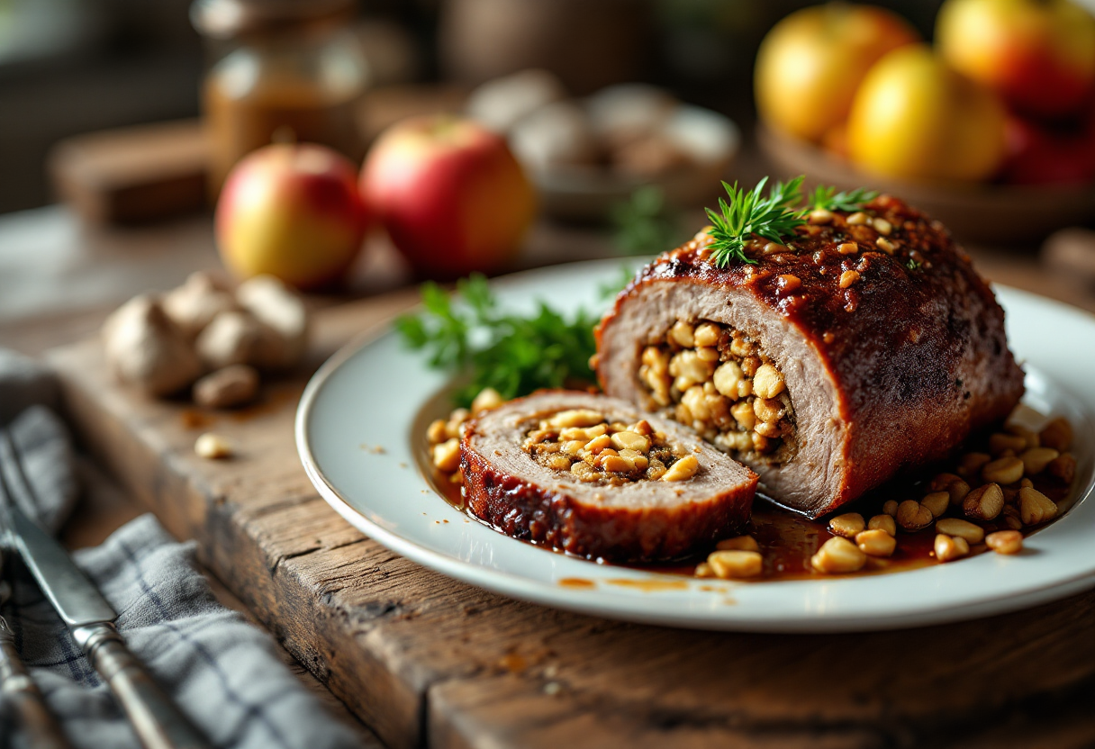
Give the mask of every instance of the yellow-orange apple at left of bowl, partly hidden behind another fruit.
<svg viewBox="0 0 1095 749">
<path fill-rule="evenodd" d="M 760 116 L 777 130 L 820 141 L 848 117 L 867 70 L 886 53 L 919 41 L 904 19 L 873 5 L 796 11 L 775 24 L 757 55 Z"/>
</svg>

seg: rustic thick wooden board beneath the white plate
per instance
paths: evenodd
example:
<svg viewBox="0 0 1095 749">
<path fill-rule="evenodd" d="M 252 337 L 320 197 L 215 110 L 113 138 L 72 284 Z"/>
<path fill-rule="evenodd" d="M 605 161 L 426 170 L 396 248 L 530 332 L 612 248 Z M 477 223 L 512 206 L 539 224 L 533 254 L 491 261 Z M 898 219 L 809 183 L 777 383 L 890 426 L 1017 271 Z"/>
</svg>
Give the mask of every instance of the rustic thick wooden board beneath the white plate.
<svg viewBox="0 0 1095 749">
<path fill-rule="evenodd" d="M 320 312 L 306 369 L 414 300 Z M 173 533 L 197 539 L 201 562 L 392 747 L 1095 745 L 1095 592 L 863 635 L 692 632 L 545 609 L 419 567 L 328 508 L 293 447 L 308 371 L 214 416 L 116 385 L 95 341 L 49 359 L 87 448 Z M 239 457 L 196 457 L 208 429 Z"/>
</svg>

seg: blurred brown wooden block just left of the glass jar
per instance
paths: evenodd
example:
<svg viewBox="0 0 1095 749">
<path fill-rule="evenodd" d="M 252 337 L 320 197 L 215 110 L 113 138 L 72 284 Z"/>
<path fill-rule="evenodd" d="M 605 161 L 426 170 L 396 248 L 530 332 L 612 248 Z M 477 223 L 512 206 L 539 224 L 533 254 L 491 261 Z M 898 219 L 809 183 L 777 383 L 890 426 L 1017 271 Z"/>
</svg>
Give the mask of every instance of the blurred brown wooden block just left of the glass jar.
<svg viewBox="0 0 1095 749">
<path fill-rule="evenodd" d="M 200 210 L 209 145 L 186 119 L 76 136 L 54 147 L 55 192 L 85 220 L 135 223 Z"/>
</svg>

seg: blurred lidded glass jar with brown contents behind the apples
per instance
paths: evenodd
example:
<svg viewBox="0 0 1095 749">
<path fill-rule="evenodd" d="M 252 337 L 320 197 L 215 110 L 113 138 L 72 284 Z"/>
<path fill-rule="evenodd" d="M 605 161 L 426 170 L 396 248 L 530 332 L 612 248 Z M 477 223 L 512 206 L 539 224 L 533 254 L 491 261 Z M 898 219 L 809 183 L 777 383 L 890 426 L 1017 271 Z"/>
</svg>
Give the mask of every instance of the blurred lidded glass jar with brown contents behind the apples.
<svg viewBox="0 0 1095 749">
<path fill-rule="evenodd" d="M 357 105 L 368 66 L 349 22 L 354 0 L 197 0 L 194 26 L 215 62 L 203 85 L 214 195 L 243 155 L 270 142 L 365 153 Z"/>
</svg>

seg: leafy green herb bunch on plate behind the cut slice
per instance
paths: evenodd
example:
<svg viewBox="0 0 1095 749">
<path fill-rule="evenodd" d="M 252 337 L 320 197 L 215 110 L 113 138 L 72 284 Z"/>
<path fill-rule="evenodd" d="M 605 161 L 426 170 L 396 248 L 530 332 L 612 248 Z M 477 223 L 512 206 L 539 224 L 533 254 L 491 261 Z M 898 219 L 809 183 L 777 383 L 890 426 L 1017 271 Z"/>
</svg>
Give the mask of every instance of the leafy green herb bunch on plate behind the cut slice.
<svg viewBox="0 0 1095 749">
<path fill-rule="evenodd" d="M 503 313 L 481 275 L 459 281 L 457 295 L 459 301 L 424 284 L 425 310 L 401 316 L 396 327 L 411 348 L 428 352 L 430 367 L 469 374 L 454 395 L 459 405 L 469 405 L 483 388 L 509 400 L 596 381 L 589 368 L 596 319 L 585 310 L 572 320 L 543 303 L 530 316 Z"/>
</svg>

